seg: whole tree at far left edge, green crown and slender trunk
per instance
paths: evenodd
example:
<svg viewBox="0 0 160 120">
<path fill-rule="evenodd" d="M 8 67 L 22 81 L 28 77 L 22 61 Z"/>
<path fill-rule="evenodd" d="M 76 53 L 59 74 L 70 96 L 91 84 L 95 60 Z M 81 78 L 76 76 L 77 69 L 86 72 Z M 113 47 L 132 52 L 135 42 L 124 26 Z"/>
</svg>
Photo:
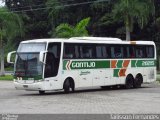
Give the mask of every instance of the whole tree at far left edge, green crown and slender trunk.
<svg viewBox="0 0 160 120">
<path fill-rule="evenodd" d="M 0 8 L 0 56 L 1 56 L 1 71 L 0 75 L 4 73 L 4 40 L 12 40 L 17 35 L 23 35 L 23 23 L 21 18 L 9 12 L 5 7 Z"/>
</svg>

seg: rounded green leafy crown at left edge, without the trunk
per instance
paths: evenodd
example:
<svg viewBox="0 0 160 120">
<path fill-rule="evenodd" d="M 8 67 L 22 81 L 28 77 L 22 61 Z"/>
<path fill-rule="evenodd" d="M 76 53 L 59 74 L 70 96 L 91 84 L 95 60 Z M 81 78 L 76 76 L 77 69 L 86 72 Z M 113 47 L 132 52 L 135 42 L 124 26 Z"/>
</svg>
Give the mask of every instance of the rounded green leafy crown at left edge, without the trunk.
<svg viewBox="0 0 160 120">
<path fill-rule="evenodd" d="M 17 35 L 24 35 L 23 21 L 20 16 L 5 7 L 0 8 L 0 35 L 7 40 L 11 40 Z"/>
</svg>

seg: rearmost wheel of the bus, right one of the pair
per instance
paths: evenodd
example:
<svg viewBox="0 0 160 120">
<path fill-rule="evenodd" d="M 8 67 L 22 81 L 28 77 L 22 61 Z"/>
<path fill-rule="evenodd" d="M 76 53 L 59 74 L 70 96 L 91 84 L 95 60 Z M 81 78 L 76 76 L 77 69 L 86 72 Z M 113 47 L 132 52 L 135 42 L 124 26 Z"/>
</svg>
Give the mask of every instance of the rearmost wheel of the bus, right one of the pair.
<svg viewBox="0 0 160 120">
<path fill-rule="evenodd" d="M 135 79 L 134 79 L 134 84 L 133 84 L 133 87 L 134 88 L 140 88 L 141 85 L 143 83 L 143 77 L 141 74 L 137 74 Z"/>
</svg>

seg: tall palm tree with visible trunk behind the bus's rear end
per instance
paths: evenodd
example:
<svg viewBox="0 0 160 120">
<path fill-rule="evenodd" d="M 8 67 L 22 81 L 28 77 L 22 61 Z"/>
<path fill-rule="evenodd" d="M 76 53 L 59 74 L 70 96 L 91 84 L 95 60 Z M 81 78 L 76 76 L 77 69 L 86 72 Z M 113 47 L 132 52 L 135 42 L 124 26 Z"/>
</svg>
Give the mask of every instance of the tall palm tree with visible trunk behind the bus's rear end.
<svg viewBox="0 0 160 120">
<path fill-rule="evenodd" d="M 112 10 L 116 19 L 123 20 L 126 29 L 126 40 L 130 41 L 130 32 L 136 21 L 143 28 L 154 14 L 153 0 L 119 0 Z"/>
</svg>

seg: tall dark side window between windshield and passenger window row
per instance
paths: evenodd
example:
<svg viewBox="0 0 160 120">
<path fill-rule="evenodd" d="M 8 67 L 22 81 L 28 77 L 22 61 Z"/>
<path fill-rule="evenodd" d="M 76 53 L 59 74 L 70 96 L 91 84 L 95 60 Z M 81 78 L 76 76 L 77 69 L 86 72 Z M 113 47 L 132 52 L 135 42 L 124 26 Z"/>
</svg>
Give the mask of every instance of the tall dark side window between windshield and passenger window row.
<svg viewBox="0 0 160 120">
<path fill-rule="evenodd" d="M 61 43 L 49 43 L 46 56 L 44 77 L 54 77 L 58 74 L 61 53 Z"/>
</svg>

